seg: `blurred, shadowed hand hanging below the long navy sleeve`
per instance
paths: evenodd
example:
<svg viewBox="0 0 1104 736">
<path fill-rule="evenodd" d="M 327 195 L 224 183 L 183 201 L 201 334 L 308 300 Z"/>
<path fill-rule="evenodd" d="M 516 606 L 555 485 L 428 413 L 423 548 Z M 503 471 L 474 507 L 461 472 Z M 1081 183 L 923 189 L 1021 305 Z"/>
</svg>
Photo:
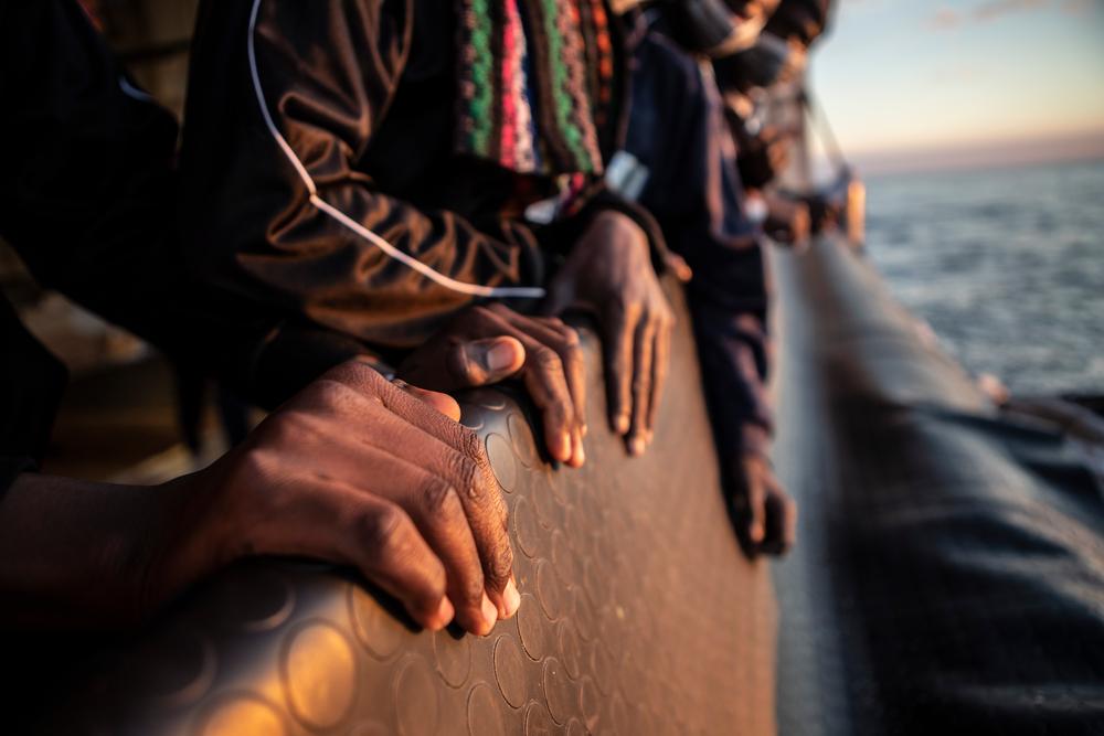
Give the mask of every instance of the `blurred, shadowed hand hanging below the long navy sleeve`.
<svg viewBox="0 0 1104 736">
<path fill-rule="evenodd" d="M 749 557 L 782 555 L 797 532 L 797 504 L 775 478 L 769 461 L 757 454 L 733 458 L 725 486 L 736 536 Z"/>
</svg>

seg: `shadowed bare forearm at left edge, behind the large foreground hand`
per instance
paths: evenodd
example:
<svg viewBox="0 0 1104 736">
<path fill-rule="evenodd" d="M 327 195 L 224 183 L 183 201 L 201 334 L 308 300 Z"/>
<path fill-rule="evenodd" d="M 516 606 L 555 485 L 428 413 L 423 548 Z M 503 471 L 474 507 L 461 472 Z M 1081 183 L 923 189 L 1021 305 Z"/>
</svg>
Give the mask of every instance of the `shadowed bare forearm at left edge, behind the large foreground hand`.
<svg viewBox="0 0 1104 736">
<path fill-rule="evenodd" d="M 19 476 L 0 502 L 0 625 L 102 628 L 140 618 L 164 589 L 147 570 L 184 495 L 179 482 Z"/>
</svg>

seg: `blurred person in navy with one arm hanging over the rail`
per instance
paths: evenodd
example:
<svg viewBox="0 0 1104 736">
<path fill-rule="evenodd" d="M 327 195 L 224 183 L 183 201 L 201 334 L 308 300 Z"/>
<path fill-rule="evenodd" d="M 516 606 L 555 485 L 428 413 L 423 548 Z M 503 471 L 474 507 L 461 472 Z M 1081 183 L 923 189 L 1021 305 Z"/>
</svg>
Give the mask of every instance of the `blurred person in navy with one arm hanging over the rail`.
<svg viewBox="0 0 1104 736">
<path fill-rule="evenodd" d="M 782 554 L 797 509 L 769 461 L 773 416 L 762 231 L 744 212 L 710 53 L 755 43 L 773 3 L 668 3 L 637 20 L 628 136 L 614 169 L 692 271 L 687 296 L 721 459 L 744 550 Z M 718 52 L 720 50 L 720 52 Z"/>
</svg>

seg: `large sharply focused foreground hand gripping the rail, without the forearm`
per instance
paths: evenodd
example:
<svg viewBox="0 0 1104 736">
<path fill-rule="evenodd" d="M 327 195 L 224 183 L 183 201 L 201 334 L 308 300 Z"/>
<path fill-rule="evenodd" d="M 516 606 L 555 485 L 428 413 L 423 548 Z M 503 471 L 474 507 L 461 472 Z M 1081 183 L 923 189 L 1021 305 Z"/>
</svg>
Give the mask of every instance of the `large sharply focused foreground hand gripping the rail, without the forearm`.
<svg viewBox="0 0 1104 736">
<path fill-rule="evenodd" d="M 182 511 L 151 555 L 160 600 L 247 555 L 349 564 L 429 629 L 490 632 L 520 597 L 507 510 L 482 442 L 444 394 L 364 363 L 328 372 L 210 469 L 174 481 Z"/>
</svg>

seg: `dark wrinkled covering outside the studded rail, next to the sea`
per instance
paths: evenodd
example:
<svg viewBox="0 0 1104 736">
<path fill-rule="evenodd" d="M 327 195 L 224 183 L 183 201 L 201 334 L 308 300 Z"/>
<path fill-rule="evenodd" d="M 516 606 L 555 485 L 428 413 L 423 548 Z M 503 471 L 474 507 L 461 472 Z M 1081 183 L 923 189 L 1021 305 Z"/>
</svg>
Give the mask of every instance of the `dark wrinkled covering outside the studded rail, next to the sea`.
<svg viewBox="0 0 1104 736">
<path fill-rule="evenodd" d="M 834 242 L 775 253 L 782 734 L 1104 734 L 1104 495 Z"/>
</svg>

